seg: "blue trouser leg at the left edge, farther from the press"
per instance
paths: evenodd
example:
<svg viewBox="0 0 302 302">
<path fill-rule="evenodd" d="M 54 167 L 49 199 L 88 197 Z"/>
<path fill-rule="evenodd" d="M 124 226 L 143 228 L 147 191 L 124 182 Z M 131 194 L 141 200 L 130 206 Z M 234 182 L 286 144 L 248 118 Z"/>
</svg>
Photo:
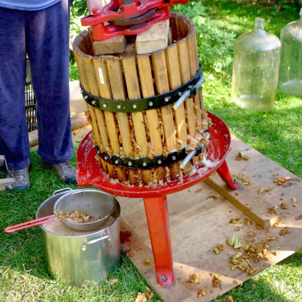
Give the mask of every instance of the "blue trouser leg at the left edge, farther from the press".
<svg viewBox="0 0 302 302">
<path fill-rule="evenodd" d="M 25 169 L 30 163 L 24 23 L 24 12 L 0 8 L 0 154 L 14 170 Z"/>
</svg>

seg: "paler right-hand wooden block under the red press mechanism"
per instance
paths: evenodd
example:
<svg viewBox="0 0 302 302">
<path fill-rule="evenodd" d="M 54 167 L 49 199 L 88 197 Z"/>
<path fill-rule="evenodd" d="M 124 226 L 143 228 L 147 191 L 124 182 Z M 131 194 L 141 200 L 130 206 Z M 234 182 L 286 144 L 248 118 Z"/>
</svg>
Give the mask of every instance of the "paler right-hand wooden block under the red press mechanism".
<svg viewBox="0 0 302 302">
<path fill-rule="evenodd" d="M 147 31 L 136 36 L 137 54 L 150 53 L 168 46 L 169 19 L 154 24 Z"/>
</svg>

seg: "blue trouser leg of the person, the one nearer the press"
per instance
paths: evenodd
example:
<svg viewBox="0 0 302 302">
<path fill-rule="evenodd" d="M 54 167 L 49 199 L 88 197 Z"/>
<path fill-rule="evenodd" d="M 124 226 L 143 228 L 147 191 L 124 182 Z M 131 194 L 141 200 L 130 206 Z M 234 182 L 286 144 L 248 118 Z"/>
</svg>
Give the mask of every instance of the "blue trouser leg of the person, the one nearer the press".
<svg viewBox="0 0 302 302">
<path fill-rule="evenodd" d="M 44 162 L 62 163 L 73 154 L 69 113 L 68 0 L 28 12 L 27 52 L 37 100 L 38 154 Z"/>
</svg>

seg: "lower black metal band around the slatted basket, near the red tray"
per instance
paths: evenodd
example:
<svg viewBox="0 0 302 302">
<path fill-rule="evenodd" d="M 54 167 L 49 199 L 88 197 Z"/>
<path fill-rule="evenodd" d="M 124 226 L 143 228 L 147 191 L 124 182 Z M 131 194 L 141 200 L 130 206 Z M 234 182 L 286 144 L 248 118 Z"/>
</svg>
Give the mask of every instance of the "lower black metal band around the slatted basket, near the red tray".
<svg viewBox="0 0 302 302">
<path fill-rule="evenodd" d="M 187 156 L 186 149 L 183 148 L 180 152 L 171 152 L 168 154 L 167 157 L 163 155 L 158 155 L 155 156 L 152 160 L 146 157 L 139 158 L 139 159 L 133 159 L 128 157 L 121 158 L 117 155 L 108 155 L 107 152 L 101 152 L 99 147 L 96 145 L 94 145 L 94 147 L 96 148 L 99 157 L 102 158 L 107 163 L 112 164 L 113 166 L 119 166 L 119 167 L 130 168 L 130 169 L 151 169 L 156 167 L 169 166 L 173 163 L 177 163 L 183 160 Z M 204 143 L 201 143 L 195 149 L 196 150 L 195 156 L 199 155 L 202 152 L 203 147 L 204 147 Z"/>
</svg>

